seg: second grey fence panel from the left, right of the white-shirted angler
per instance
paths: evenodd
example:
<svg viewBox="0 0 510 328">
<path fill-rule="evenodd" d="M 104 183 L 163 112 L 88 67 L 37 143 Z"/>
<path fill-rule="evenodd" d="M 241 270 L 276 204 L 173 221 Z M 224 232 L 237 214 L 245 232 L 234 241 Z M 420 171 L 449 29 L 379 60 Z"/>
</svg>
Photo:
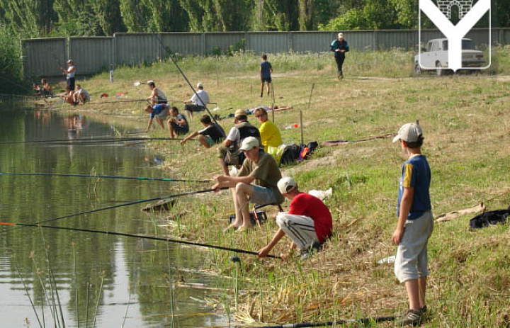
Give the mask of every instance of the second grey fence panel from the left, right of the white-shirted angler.
<svg viewBox="0 0 510 328">
<path fill-rule="evenodd" d="M 94 74 L 115 65 L 114 40 L 112 37 L 69 38 L 69 57 L 79 63 L 79 74 Z"/>
</svg>

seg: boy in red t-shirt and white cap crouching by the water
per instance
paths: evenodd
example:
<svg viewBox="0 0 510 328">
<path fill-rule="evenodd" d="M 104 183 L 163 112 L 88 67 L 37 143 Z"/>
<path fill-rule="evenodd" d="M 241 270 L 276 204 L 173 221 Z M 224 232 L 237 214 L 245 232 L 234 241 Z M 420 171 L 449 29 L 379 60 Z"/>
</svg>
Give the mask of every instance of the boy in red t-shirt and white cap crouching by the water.
<svg viewBox="0 0 510 328">
<path fill-rule="evenodd" d="M 288 257 L 297 247 L 300 250 L 301 259 L 304 260 L 312 254 L 313 250 L 320 249 L 326 239 L 331 236 L 333 229 L 331 212 L 319 198 L 300 192 L 292 178 L 280 179 L 278 190 L 285 198 L 291 200 L 290 209 L 287 213 L 282 212 L 276 216 L 276 224 L 280 229 L 273 240 L 259 250 L 259 257 L 268 256 L 271 249 L 286 234 L 292 239 L 292 243 L 289 253 L 283 254 L 282 257 Z"/>
</svg>

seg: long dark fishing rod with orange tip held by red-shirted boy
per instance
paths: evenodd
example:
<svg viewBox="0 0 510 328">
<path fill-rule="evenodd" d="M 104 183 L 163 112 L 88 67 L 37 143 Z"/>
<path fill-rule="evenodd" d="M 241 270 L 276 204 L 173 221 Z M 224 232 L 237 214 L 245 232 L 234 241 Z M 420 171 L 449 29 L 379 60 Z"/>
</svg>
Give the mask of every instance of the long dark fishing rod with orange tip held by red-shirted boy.
<svg viewBox="0 0 510 328">
<path fill-rule="evenodd" d="M 127 234 L 127 233 L 123 233 L 123 232 L 110 232 L 110 231 L 105 231 L 105 230 L 91 230 L 91 229 L 80 229 L 80 228 L 71 228 L 71 227 L 55 227 L 52 225 L 38 225 L 36 223 L 26 224 L 26 223 L 0 222 L 0 225 L 11 225 L 11 226 L 19 226 L 19 227 L 42 227 L 42 228 L 57 229 L 57 230 L 92 232 L 92 233 L 96 233 L 96 234 L 111 234 L 113 236 L 133 237 L 133 238 L 151 239 L 151 240 L 162 240 L 164 242 L 174 242 L 176 244 L 186 244 L 186 245 L 191 245 L 191 246 L 201 246 L 201 247 L 208 247 L 208 248 L 212 248 L 212 249 L 221 249 L 223 251 L 235 251 L 236 253 L 242 253 L 242 254 L 250 254 L 250 255 L 257 255 L 257 256 L 259 255 L 259 253 L 257 253 L 256 251 L 246 251 L 245 249 L 237 249 L 237 248 L 224 247 L 224 246 L 218 246 L 218 245 L 212 245 L 212 244 L 203 244 L 200 242 L 188 242 L 186 240 L 181 240 L 181 239 L 145 236 L 143 234 Z M 271 257 L 273 259 L 280 259 L 280 256 L 275 256 L 275 255 L 268 255 L 267 257 Z"/>
</svg>

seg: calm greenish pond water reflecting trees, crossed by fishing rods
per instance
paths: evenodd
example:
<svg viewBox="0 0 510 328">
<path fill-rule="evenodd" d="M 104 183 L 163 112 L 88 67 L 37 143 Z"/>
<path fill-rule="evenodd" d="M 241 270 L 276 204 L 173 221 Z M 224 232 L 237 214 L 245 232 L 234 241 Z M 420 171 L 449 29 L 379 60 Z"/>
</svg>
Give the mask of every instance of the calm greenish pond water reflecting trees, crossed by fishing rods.
<svg viewBox="0 0 510 328">
<path fill-rule="evenodd" d="M 157 169 L 158 157 L 141 144 L 5 144 L 106 135 L 113 136 L 108 123 L 86 116 L 0 108 L 0 142 L 4 143 L 0 144 L 0 172 L 165 177 Z M 0 221 L 33 223 L 176 192 L 169 182 L 102 179 L 95 183 L 88 178 L 0 175 Z M 188 186 L 190 191 L 196 188 L 200 187 Z M 79 215 L 47 225 L 164 234 L 159 227 L 164 224 L 163 216 L 147 215 L 140 210 L 143 206 Z M 55 326 L 56 315 L 63 317 L 66 327 L 93 327 L 94 320 L 96 327 L 121 327 L 124 321 L 123 327 L 227 323 L 225 317 L 200 302 L 217 296 L 215 288 L 225 288 L 215 276 L 198 272 L 210 261 L 208 251 L 104 234 L 37 227 L 8 231 L 12 229 L 0 227 L 1 327 L 40 327 L 30 298 L 46 327 L 59 327 Z M 181 284 L 174 295 L 171 281 Z M 190 288 L 193 284 L 204 288 Z"/>
</svg>

